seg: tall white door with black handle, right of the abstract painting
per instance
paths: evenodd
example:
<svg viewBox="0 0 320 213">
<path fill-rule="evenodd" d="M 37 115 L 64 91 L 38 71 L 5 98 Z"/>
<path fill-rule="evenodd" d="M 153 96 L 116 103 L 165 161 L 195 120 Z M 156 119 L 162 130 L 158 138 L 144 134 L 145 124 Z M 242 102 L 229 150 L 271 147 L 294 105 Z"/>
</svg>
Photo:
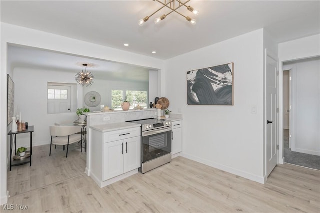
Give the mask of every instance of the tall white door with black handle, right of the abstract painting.
<svg viewBox="0 0 320 213">
<path fill-rule="evenodd" d="M 266 54 L 266 52 L 265 52 Z M 265 59 L 265 89 L 266 89 L 266 103 L 265 103 L 265 175 L 266 177 L 271 173 L 277 164 L 277 143 L 276 143 L 276 78 L 277 78 L 277 61 L 266 55 Z"/>
</svg>

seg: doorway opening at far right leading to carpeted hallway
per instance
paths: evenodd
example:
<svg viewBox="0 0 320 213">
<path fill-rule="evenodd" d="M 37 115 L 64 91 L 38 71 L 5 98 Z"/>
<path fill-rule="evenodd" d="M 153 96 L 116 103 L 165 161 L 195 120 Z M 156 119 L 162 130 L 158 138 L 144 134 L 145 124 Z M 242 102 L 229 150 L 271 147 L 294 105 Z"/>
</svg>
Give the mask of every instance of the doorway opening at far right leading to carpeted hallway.
<svg viewBox="0 0 320 213">
<path fill-rule="evenodd" d="M 320 170 L 320 57 L 283 62 L 285 163 Z"/>
</svg>

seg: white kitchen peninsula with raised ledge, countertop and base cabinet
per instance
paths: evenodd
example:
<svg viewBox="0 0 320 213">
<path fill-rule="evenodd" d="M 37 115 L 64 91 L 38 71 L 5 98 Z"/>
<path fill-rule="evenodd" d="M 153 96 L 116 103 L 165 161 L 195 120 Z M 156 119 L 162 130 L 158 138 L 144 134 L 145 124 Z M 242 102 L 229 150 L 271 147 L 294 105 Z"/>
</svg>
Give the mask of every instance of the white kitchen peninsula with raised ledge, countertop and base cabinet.
<svg viewBox="0 0 320 213">
<path fill-rule="evenodd" d="M 126 121 L 156 118 L 156 109 L 85 114 L 88 131 L 85 173 L 99 187 L 137 173 L 141 125 Z M 172 118 L 181 121 L 182 116 L 178 114 Z"/>
</svg>

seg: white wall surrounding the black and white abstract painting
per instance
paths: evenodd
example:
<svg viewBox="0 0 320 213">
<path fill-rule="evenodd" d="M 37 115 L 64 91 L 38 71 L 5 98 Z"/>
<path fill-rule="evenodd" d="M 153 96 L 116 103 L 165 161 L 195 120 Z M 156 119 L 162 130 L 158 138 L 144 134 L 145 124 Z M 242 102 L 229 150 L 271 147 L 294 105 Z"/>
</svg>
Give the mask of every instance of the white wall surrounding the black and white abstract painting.
<svg viewBox="0 0 320 213">
<path fill-rule="evenodd" d="M 186 105 L 186 72 L 229 62 L 234 105 Z M 174 57 L 165 66 L 169 108 L 183 114 L 183 156 L 263 183 L 263 30 Z"/>
</svg>

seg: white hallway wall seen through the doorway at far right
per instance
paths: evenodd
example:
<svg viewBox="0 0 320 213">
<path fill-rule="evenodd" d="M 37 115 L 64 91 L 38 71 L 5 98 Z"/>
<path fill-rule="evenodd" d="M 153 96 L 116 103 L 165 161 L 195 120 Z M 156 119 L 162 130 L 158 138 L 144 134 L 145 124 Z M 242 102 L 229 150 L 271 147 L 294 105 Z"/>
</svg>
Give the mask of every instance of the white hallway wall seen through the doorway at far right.
<svg viewBox="0 0 320 213">
<path fill-rule="evenodd" d="M 320 57 L 283 63 L 291 69 L 291 150 L 320 155 Z"/>
</svg>

